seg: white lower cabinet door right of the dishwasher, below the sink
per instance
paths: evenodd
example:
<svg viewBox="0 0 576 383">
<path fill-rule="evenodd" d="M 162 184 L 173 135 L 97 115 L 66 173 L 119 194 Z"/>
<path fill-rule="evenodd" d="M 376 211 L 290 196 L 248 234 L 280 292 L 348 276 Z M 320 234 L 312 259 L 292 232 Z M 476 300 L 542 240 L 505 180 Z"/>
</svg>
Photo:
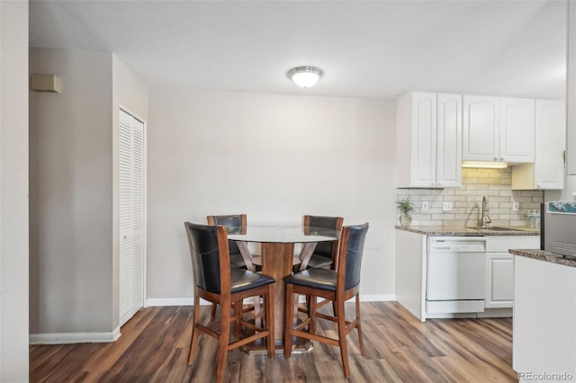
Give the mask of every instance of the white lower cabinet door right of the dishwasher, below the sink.
<svg viewBox="0 0 576 383">
<path fill-rule="evenodd" d="M 486 308 L 514 306 L 514 258 L 509 253 L 486 254 Z"/>
</svg>

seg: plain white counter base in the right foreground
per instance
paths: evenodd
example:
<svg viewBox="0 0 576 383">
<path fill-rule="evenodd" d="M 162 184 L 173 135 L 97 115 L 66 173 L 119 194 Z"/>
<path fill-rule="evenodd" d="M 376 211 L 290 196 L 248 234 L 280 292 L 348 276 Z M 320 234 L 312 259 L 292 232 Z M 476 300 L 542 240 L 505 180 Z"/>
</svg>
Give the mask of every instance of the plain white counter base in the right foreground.
<svg viewBox="0 0 576 383">
<path fill-rule="evenodd" d="M 573 381 L 576 268 L 514 255 L 514 272 L 512 367 L 518 380 Z M 535 379 L 536 373 L 549 378 Z"/>
</svg>

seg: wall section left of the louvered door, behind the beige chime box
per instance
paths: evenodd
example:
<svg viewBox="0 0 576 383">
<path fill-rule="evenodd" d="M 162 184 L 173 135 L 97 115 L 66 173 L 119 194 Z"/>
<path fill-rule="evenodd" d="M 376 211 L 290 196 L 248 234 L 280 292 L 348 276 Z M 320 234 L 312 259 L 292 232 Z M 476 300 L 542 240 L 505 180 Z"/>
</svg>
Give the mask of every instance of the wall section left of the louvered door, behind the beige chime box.
<svg viewBox="0 0 576 383">
<path fill-rule="evenodd" d="M 31 334 L 112 332 L 112 54 L 31 49 Z"/>
</svg>

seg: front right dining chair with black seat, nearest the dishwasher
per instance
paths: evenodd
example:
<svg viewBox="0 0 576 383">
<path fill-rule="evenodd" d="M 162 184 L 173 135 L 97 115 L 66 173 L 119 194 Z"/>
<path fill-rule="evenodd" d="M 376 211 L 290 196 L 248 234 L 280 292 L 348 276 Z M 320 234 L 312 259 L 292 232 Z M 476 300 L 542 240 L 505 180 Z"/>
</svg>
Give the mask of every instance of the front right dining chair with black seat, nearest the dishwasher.
<svg viewBox="0 0 576 383">
<path fill-rule="evenodd" d="M 308 269 L 297 272 L 285 280 L 286 283 L 286 319 L 284 331 L 284 357 L 290 358 L 293 344 L 293 336 L 299 336 L 312 341 L 328 343 L 340 347 L 344 376 L 350 378 L 350 365 L 348 363 L 347 334 L 356 328 L 360 352 L 365 354 L 362 340 L 362 326 L 360 319 L 360 268 L 368 223 L 357 226 L 342 228 L 340 244 L 338 246 L 337 270 Z M 311 297 L 310 308 L 298 308 L 297 313 L 305 313 L 301 323 L 293 326 L 294 320 L 294 294 L 302 294 Z M 317 297 L 324 298 L 317 303 Z M 351 298 L 356 298 L 356 318 L 347 321 L 344 303 Z M 318 308 L 334 302 L 336 312 L 334 316 L 317 312 Z M 326 319 L 336 322 L 338 339 L 316 334 L 316 322 L 318 319 Z M 305 328 L 308 327 L 308 331 Z"/>
</svg>

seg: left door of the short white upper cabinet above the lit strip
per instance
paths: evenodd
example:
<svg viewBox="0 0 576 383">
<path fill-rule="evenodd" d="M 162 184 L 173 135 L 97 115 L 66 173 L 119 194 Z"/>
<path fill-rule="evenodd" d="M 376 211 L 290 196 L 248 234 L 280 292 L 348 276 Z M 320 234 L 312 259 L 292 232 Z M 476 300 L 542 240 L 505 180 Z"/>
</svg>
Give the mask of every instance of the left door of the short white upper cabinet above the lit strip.
<svg viewBox="0 0 576 383">
<path fill-rule="evenodd" d="M 497 161 L 499 97 L 464 95 L 464 161 Z"/>
</svg>

